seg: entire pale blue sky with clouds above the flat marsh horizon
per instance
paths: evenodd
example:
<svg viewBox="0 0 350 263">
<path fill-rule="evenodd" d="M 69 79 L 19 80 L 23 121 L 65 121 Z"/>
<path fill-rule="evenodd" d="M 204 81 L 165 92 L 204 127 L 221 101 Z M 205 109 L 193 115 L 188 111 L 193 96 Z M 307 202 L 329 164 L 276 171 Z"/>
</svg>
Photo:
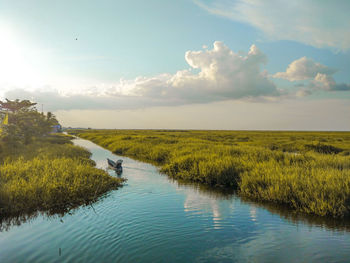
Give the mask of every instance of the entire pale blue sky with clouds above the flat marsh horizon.
<svg viewBox="0 0 350 263">
<path fill-rule="evenodd" d="M 0 99 L 64 126 L 350 130 L 348 0 L 0 0 Z"/>
</svg>

